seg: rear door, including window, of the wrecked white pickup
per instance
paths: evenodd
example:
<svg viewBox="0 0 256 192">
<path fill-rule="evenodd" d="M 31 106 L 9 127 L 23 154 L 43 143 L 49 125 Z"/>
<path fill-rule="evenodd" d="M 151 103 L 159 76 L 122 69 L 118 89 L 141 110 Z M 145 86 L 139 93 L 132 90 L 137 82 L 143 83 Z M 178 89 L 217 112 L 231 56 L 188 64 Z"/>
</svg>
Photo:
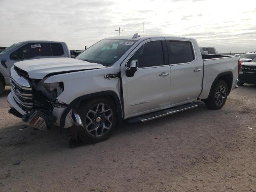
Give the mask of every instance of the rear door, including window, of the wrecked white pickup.
<svg viewBox="0 0 256 192">
<path fill-rule="evenodd" d="M 197 59 L 190 41 L 167 39 L 166 43 L 171 68 L 170 103 L 196 100 L 202 89 L 202 60 Z"/>
</svg>

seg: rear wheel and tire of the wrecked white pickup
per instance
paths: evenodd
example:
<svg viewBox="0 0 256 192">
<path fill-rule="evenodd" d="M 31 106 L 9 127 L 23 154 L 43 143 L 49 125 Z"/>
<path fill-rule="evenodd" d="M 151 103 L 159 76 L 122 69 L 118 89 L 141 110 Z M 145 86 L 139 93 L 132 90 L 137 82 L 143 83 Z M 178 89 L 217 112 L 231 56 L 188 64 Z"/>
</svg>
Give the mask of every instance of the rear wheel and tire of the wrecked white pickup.
<svg viewBox="0 0 256 192">
<path fill-rule="evenodd" d="M 221 109 L 228 97 L 228 85 L 223 80 L 218 80 L 208 98 L 204 101 L 205 105 L 214 110 Z"/>
</svg>

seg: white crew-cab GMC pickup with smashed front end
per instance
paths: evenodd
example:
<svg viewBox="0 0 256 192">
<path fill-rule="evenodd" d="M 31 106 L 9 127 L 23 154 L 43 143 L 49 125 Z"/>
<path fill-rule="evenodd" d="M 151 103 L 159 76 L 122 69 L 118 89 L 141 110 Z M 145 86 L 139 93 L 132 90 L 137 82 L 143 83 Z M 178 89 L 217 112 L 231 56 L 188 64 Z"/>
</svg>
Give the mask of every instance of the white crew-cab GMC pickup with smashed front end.
<svg viewBox="0 0 256 192">
<path fill-rule="evenodd" d="M 201 55 L 192 38 L 106 38 L 76 59 L 15 63 L 9 112 L 31 127 L 72 127 L 74 138 L 100 142 L 121 120 L 145 122 L 200 101 L 222 108 L 240 66 L 236 56 Z"/>
</svg>

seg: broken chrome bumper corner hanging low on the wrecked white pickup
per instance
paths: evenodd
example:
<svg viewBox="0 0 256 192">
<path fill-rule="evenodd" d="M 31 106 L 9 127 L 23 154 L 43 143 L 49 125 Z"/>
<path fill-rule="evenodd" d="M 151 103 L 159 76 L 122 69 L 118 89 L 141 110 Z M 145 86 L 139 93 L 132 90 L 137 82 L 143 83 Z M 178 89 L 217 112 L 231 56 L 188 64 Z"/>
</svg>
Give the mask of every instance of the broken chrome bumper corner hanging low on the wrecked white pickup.
<svg viewBox="0 0 256 192">
<path fill-rule="evenodd" d="M 26 125 L 44 131 L 47 131 L 47 128 L 54 124 L 55 120 L 55 116 L 47 114 L 47 112 L 43 110 L 35 110 L 34 112 L 27 113 L 22 117 L 22 122 Z"/>
</svg>

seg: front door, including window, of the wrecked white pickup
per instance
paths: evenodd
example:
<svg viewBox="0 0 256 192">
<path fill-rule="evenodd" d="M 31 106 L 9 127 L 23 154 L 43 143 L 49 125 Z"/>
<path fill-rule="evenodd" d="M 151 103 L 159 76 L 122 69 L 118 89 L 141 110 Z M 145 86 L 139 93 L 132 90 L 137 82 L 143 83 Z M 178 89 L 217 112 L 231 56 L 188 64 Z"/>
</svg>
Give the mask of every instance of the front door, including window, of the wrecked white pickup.
<svg viewBox="0 0 256 192">
<path fill-rule="evenodd" d="M 132 51 L 128 60 L 122 63 L 122 90 L 126 118 L 169 105 L 170 66 L 166 59 L 168 58 L 166 42 L 164 38 L 161 39 L 144 41 Z M 138 69 L 133 77 L 127 77 L 125 70 L 130 68 L 132 60 L 138 60 Z"/>
</svg>

